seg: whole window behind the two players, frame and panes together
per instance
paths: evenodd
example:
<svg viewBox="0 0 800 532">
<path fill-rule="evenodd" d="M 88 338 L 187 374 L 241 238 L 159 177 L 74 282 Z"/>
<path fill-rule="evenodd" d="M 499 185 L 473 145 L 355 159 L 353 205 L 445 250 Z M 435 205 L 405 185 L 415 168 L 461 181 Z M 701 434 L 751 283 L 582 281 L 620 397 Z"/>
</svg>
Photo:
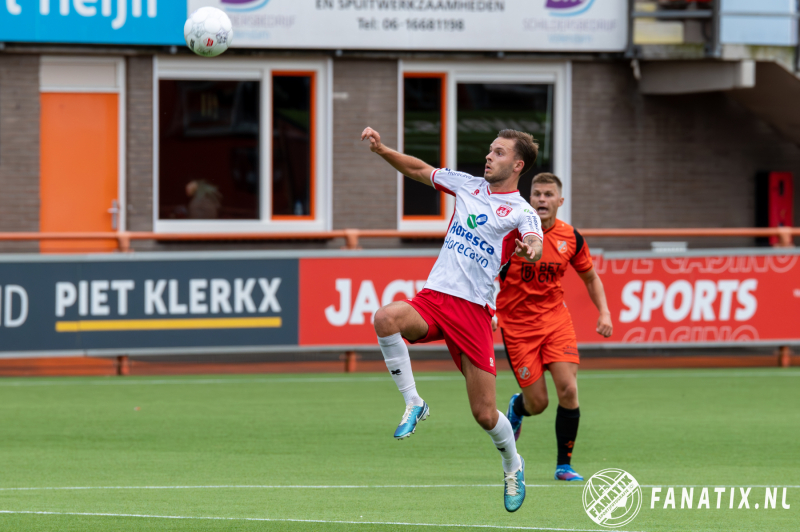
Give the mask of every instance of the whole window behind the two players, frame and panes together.
<svg viewBox="0 0 800 532">
<path fill-rule="evenodd" d="M 482 176 L 489 146 L 503 129 L 527 131 L 539 143 L 536 166 L 522 176 L 530 197 L 539 172 L 564 183 L 559 218 L 571 219 L 569 63 L 404 61 L 400 65 L 402 148 L 432 166 Z M 447 227 L 455 202 L 398 176 L 398 227 Z"/>
</svg>

